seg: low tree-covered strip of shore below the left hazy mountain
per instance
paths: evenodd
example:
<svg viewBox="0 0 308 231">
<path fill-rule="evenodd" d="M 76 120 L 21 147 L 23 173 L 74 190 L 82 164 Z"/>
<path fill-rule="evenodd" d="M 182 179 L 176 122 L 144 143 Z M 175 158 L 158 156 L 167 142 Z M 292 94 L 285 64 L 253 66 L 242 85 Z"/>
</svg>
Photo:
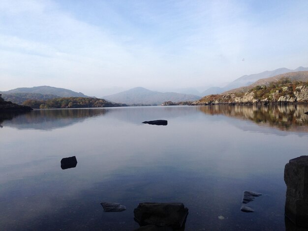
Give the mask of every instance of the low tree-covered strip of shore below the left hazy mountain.
<svg viewBox="0 0 308 231">
<path fill-rule="evenodd" d="M 23 105 L 32 108 L 102 108 L 102 107 L 122 107 L 125 104 L 111 103 L 104 99 L 86 97 L 64 97 L 48 100 L 26 100 Z"/>
</svg>

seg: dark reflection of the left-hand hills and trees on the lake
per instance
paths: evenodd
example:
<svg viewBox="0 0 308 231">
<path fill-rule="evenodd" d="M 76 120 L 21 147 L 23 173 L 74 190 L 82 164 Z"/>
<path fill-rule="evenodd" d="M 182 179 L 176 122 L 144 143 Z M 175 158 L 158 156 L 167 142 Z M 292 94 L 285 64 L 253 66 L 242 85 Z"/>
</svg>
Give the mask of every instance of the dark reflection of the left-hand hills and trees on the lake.
<svg viewBox="0 0 308 231">
<path fill-rule="evenodd" d="M 16 127 L 18 129 L 51 130 L 65 127 L 85 120 L 87 117 L 104 115 L 105 109 L 54 109 L 34 110 L 23 115 L 0 116 L 4 120 L 2 126 Z M 10 120 L 7 120 L 10 119 Z"/>
</svg>

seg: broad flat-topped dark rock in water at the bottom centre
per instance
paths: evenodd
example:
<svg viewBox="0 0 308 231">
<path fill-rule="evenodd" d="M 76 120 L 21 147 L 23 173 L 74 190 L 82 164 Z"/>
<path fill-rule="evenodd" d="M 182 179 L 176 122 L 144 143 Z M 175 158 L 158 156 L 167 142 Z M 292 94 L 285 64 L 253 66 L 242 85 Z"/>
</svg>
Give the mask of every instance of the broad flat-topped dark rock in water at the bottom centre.
<svg viewBox="0 0 308 231">
<path fill-rule="evenodd" d="M 188 208 L 183 203 L 139 203 L 134 219 L 140 226 L 155 225 L 172 229 L 185 229 Z"/>
</svg>

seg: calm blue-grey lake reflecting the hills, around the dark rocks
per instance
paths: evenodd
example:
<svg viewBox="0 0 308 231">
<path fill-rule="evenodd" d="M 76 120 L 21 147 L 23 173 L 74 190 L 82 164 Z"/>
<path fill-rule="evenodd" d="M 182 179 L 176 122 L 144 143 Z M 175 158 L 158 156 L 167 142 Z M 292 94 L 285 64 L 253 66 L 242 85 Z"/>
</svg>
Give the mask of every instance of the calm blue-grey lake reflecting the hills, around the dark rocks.
<svg viewBox="0 0 308 231">
<path fill-rule="evenodd" d="M 140 202 L 183 202 L 185 230 L 285 230 L 284 166 L 308 105 L 34 110 L 0 117 L 0 230 L 137 229 Z M 143 124 L 166 119 L 167 126 Z M 62 170 L 64 157 L 75 168 Z M 263 195 L 240 210 L 243 191 Z M 103 212 L 118 202 L 123 212 Z M 224 219 L 218 219 L 223 216 Z M 287 226 L 287 227 L 286 227 Z"/>
</svg>

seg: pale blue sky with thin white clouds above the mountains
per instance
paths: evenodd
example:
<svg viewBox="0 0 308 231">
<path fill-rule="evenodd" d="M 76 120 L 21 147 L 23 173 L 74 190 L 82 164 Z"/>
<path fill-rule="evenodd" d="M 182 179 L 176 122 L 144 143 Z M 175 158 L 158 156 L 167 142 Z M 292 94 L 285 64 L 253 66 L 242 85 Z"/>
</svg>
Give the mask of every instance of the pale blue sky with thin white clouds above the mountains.
<svg viewBox="0 0 308 231">
<path fill-rule="evenodd" d="M 307 0 L 1 0 L 0 91 L 222 86 L 308 67 Z M 119 90 L 120 91 L 120 90 Z"/>
</svg>

